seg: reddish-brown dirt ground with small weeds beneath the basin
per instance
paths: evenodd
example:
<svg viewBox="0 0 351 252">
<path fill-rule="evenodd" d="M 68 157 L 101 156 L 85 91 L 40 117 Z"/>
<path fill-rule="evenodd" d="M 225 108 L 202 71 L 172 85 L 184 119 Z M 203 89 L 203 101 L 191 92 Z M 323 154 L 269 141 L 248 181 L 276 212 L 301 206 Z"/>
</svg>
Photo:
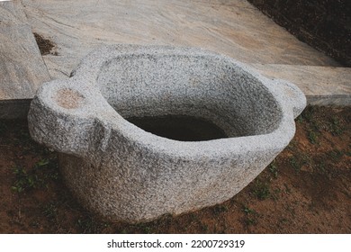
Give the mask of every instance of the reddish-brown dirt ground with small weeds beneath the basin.
<svg viewBox="0 0 351 252">
<path fill-rule="evenodd" d="M 351 233 L 351 107 L 308 107 L 291 144 L 219 205 L 148 223 L 111 223 L 82 209 L 57 154 L 26 121 L 0 121 L 0 233 Z"/>
</svg>

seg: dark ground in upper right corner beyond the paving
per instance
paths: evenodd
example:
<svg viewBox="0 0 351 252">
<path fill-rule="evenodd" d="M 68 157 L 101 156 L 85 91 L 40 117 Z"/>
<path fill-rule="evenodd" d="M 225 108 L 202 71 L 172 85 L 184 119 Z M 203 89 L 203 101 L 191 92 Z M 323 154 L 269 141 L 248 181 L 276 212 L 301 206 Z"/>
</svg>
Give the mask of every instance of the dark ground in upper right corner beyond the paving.
<svg viewBox="0 0 351 252">
<path fill-rule="evenodd" d="M 248 0 L 311 47 L 351 67 L 351 1 Z"/>
</svg>

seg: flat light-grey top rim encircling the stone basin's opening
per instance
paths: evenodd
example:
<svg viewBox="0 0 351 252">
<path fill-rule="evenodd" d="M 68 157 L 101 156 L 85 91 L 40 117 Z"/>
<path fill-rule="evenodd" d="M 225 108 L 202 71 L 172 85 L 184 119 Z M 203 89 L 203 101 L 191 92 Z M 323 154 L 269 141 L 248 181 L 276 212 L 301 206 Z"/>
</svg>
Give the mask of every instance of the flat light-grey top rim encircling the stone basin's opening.
<svg viewBox="0 0 351 252">
<path fill-rule="evenodd" d="M 108 54 L 107 57 L 97 57 L 97 55 L 103 54 L 105 51 L 112 50 L 112 53 Z M 280 121 L 276 130 L 267 134 L 259 134 L 255 136 L 245 136 L 238 138 L 228 138 L 228 139 L 212 139 L 209 141 L 199 141 L 199 142 L 183 142 L 173 139 L 166 139 L 159 137 L 157 135 L 150 134 L 145 130 L 139 129 L 139 127 L 125 120 L 118 112 L 112 108 L 112 106 L 106 102 L 105 98 L 95 86 L 96 77 L 99 74 L 100 68 L 105 64 L 106 61 L 111 60 L 116 56 L 121 54 L 128 55 L 130 53 L 142 53 L 151 50 L 153 53 L 176 53 L 184 50 L 186 53 L 211 56 L 211 57 L 223 57 L 229 59 L 237 67 L 241 67 L 244 71 L 248 72 L 250 75 L 256 77 L 262 85 L 274 94 L 276 102 L 280 105 L 282 109 L 282 120 Z M 97 57 L 97 59 L 96 59 Z M 84 83 L 84 85 L 81 85 Z M 293 118 L 296 117 L 296 113 L 293 112 L 292 103 L 286 101 L 283 92 L 276 88 L 277 83 L 283 83 L 284 85 L 294 86 L 296 90 L 299 102 L 302 101 L 300 107 L 305 106 L 305 97 L 293 84 L 289 84 L 282 80 L 270 80 L 265 76 L 257 74 L 255 70 L 247 67 L 247 65 L 242 64 L 232 58 L 222 56 L 211 51 L 203 49 L 193 49 L 193 48 L 173 48 L 165 46 L 135 46 L 135 45 L 117 45 L 117 46 L 105 46 L 101 49 L 96 49 L 87 55 L 81 62 L 81 64 L 72 72 L 71 78 L 62 81 L 51 81 L 46 85 L 42 85 L 38 91 L 37 97 L 35 99 L 40 99 L 48 103 L 52 108 L 51 110 L 57 111 L 58 113 L 66 114 L 68 117 L 75 116 L 77 118 L 90 118 L 93 121 L 103 121 L 103 124 L 109 129 L 121 130 L 121 134 L 124 135 L 130 141 L 141 144 L 145 148 L 154 149 L 155 152 L 160 151 L 167 155 L 173 156 L 173 150 L 177 149 L 177 155 L 189 158 L 189 151 L 191 150 L 193 157 L 212 156 L 212 149 L 216 149 L 215 156 L 227 157 L 230 153 L 237 152 L 247 152 L 255 147 L 255 151 L 265 151 L 268 149 L 276 148 L 280 146 L 284 148 L 294 135 L 294 121 Z M 76 92 L 82 93 L 85 97 L 85 109 L 73 109 L 67 110 L 65 108 L 57 106 L 55 103 L 48 102 L 48 90 L 57 91 L 61 88 L 69 88 L 76 90 Z M 299 94 L 300 92 L 300 94 Z M 301 95 L 302 94 L 302 95 Z M 299 96 L 300 95 L 300 96 Z M 296 97 L 293 97 L 295 99 Z M 304 103 L 303 103 L 304 100 Z M 243 143 L 242 138 L 246 138 Z M 270 142 L 275 139 L 275 147 L 273 147 Z M 224 148 L 223 148 L 224 146 Z M 169 151 L 171 149 L 171 151 Z M 58 151 L 60 149 L 58 148 Z"/>
</svg>

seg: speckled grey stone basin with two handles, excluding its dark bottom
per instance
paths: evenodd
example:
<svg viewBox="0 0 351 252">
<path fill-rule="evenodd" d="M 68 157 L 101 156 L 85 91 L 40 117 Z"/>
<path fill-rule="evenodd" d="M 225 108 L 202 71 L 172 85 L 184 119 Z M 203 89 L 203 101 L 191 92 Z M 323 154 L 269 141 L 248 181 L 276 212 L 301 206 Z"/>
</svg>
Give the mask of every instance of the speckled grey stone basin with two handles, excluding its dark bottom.
<svg viewBox="0 0 351 252">
<path fill-rule="evenodd" d="M 138 222 L 224 202 L 293 139 L 302 91 L 207 50 L 116 45 L 42 85 L 31 136 L 57 150 L 68 187 L 109 220 Z M 228 138 L 178 141 L 125 118 L 187 115 Z"/>
</svg>

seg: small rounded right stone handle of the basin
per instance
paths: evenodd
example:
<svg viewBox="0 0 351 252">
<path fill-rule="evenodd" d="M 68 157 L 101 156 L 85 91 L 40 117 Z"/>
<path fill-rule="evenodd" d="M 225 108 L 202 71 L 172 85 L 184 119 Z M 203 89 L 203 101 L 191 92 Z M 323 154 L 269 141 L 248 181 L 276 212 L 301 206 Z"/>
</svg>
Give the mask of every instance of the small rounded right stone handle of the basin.
<svg viewBox="0 0 351 252">
<path fill-rule="evenodd" d="M 273 84 L 282 103 L 293 109 L 293 118 L 298 117 L 306 107 L 306 96 L 302 90 L 297 85 L 283 79 L 274 79 Z"/>
</svg>

